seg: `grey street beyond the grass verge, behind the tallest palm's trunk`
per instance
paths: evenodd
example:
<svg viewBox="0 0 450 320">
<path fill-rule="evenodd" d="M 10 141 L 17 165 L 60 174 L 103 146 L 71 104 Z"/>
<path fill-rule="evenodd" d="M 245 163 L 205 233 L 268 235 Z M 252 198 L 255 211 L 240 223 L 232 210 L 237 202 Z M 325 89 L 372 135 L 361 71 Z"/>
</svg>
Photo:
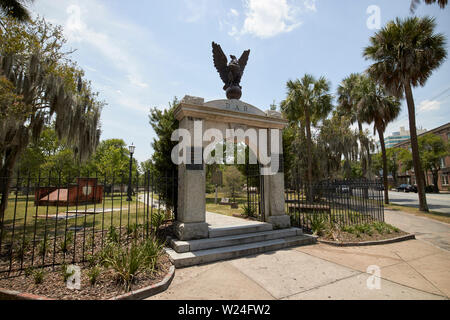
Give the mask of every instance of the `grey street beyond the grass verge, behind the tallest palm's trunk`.
<svg viewBox="0 0 450 320">
<path fill-rule="evenodd" d="M 419 208 L 417 193 L 389 192 L 389 200 L 393 204 Z M 428 207 L 432 211 L 450 214 L 450 194 L 427 194 Z"/>
</svg>

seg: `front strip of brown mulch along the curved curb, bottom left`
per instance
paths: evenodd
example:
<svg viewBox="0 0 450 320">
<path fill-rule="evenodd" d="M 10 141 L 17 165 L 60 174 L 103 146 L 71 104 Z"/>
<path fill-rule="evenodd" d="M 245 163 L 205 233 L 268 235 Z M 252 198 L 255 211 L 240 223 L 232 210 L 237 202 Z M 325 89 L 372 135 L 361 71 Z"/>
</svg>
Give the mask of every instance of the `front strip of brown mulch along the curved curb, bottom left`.
<svg viewBox="0 0 450 320">
<path fill-rule="evenodd" d="M 154 273 L 143 273 L 137 276 L 131 289 L 133 291 L 159 283 L 169 272 L 172 263 L 167 255 L 163 255 Z M 22 275 L 0 279 L 0 288 L 44 296 L 56 300 L 107 300 L 127 293 L 123 284 L 119 283 L 112 271 L 102 271 L 97 283 L 91 285 L 87 276 L 87 266 L 81 267 L 81 290 L 69 290 L 64 283 L 60 267 L 45 269 L 42 284 L 34 284 L 32 277 Z"/>
</svg>

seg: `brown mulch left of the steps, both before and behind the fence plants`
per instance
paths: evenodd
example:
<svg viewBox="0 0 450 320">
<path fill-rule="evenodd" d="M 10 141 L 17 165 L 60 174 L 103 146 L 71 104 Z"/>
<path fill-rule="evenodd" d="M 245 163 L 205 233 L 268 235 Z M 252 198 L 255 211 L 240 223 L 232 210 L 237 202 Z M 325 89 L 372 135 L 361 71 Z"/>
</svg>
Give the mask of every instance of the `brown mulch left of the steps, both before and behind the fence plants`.
<svg viewBox="0 0 450 320">
<path fill-rule="evenodd" d="M 173 234 L 172 229 L 172 222 L 167 222 L 159 229 L 158 238 L 166 239 L 167 236 Z M 57 300 L 107 300 L 128 293 L 111 270 L 102 269 L 96 284 L 90 284 L 87 275 L 89 266 L 88 263 L 83 263 L 83 261 L 92 253 L 101 250 L 102 244 L 104 245 L 106 242 L 106 232 L 103 232 L 103 234 L 102 232 L 96 232 L 93 236 L 92 231 L 85 231 L 86 234 L 84 234 L 84 231 L 79 232 L 66 253 L 61 252 L 58 247 L 59 242 L 63 239 L 61 237 L 57 238 L 56 250 L 53 250 L 54 239 L 49 239 L 49 248 L 44 257 L 38 253 L 38 244 L 35 244 L 34 266 L 50 265 L 44 268 L 45 276 L 42 284 L 36 285 L 33 276 L 25 276 L 24 270 L 32 265 L 33 245 L 30 245 L 30 248 L 23 255 L 13 253 L 14 258 L 11 260 L 11 270 L 13 271 L 9 274 L 8 272 L 0 273 L 0 288 Z M 119 229 L 117 229 L 117 232 L 119 232 Z M 123 245 L 130 243 L 132 240 L 132 236 L 128 235 L 124 228 L 120 231 L 120 237 Z M 139 234 L 139 238 L 141 237 L 143 238 L 144 235 Z M 73 257 L 75 257 L 75 260 Z M 55 263 L 54 266 L 52 266 L 53 263 Z M 72 291 L 66 287 L 61 273 L 61 263 L 74 264 L 81 268 L 81 290 Z M 0 270 L 8 270 L 9 264 L 10 254 L 3 252 L 0 255 Z M 135 291 L 159 283 L 167 275 L 171 266 L 172 263 L 168 255 L 164 253 L 159 258 L 155 271 L 139 274 L 132 284 L 131 290 Z M 22 270 L 15 271 L 19 269 Z"/>
</svg>

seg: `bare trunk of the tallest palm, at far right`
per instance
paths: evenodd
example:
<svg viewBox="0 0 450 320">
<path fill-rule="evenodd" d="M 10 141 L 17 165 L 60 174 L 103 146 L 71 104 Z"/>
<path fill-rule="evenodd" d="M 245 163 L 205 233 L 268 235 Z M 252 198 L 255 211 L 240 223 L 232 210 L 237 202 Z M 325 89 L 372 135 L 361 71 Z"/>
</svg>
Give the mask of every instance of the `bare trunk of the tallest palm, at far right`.
<svg viewBox="0 0 450 320">
<path fill-rule="evenodd" d="M 411 133 L 411 150 L 413 158 L 414 173 L 417 180 L 417 191 L 419 194 L 419 210 L 424 212 L 429 212 L 427 204 L 427 196 L 425 193 L 425 181 L 423 180 L 423 170 L 420 163 L 419 155 L 419 143 L 417 140 L 417 129 L 416 129 L 416 107 L 414 105 L 414 98 L 411 89 L 411 83 L 408 81 L 405 83 L 405 94 L 406 102 L 408 104 L 409 113 L 409 131 Z"/>
</svg>

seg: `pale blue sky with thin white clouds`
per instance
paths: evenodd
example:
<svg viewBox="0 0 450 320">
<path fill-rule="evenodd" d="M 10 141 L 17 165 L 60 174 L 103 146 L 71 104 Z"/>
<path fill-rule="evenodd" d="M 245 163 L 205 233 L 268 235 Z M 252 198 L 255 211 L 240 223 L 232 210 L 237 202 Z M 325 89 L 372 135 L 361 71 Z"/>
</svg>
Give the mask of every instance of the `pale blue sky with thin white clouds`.
<svg viewBox="0 0 450 320">
<path fill-rule="evenodd" d="M 212 41 L 227 55 L 252 50 L 241 100 L 267 110 L 285 98 L 289 79 L 325 76 L 335 92 L 344 77 L 364 71 L 370 62 L 362 50 L 376 31 L 367 26 L 372 5 L 381 25 L 410 15 L 410 0 L 36 0 L 31 9 L 63 25 L 67 45 L 77 49 L 74 60 L 108 103 L 102 139 L 134 142 L 144 161 L 153 152 L 150 107 L 165 108 L 186 94 L 225 97 Z M 437 31 L 450 39 L 450 7 L 422 4 L 416 15 L 436 17 Z M 450 62 L 414 95 L 419 127 L 448 122 Z M 408 128 L 405 103 L 387 133 L 400 126 Z"/>
</svg>

